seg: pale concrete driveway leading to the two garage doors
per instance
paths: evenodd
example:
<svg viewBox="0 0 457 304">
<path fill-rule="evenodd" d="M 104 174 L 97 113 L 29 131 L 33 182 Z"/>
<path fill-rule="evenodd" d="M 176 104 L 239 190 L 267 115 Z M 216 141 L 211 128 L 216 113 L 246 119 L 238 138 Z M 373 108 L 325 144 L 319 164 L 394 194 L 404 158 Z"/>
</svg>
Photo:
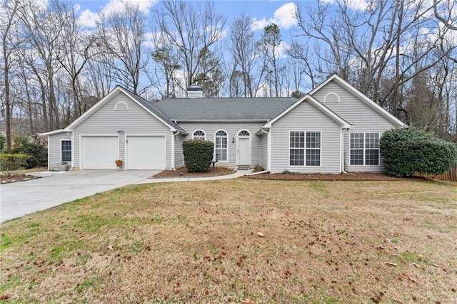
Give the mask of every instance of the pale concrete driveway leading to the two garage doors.
<svg viewBox="0 0 457 304">
<path fill-rule="evenodd" d="M 26 182 L 1 184 L 0 222 L 48 209 L 82 197 L 139 184 L 158 170 L 80 170 L 43 176 Z"/>
</svg>

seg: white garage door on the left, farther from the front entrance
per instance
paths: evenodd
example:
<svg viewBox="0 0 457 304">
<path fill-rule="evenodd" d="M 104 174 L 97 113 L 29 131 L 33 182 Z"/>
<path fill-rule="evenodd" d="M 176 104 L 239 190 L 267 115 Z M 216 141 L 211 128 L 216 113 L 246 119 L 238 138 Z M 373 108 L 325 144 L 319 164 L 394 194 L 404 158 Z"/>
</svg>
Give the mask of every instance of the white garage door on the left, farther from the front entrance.
<svg viewBox="0 0 457 304">
<path fill-rule="evenodd" d="M 119 158 L 119 137 L 83 136 L 83 169 L 116 169 L 114 162 Z"/>
</svg>

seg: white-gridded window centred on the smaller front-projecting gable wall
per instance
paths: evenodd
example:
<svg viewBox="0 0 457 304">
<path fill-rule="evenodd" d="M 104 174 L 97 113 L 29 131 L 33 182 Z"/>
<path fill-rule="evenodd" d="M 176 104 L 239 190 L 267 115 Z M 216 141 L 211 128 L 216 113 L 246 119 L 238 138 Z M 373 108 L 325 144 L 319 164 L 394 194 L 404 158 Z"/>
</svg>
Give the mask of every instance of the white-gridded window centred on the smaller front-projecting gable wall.
<svg viewBox="0 0 457 304">
<path fill-rule="evenodd" d="M 321 132 L 291 131 L 289 134 L 289 165 L 321 165 Z"/>
</svg>

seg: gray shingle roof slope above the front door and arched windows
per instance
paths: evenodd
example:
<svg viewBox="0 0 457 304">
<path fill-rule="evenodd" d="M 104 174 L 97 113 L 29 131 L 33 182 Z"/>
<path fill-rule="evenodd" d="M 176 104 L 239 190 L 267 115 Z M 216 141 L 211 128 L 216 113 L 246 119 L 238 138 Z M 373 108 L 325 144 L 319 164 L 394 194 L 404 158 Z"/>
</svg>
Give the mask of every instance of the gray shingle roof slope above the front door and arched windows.
<svg viewBox="0 0 457 304">
<path fill-rule="evenodd" d="M 271 120 L 296 98 L 171 98 L 154 103 L 171 120 Z"/>
</svg>

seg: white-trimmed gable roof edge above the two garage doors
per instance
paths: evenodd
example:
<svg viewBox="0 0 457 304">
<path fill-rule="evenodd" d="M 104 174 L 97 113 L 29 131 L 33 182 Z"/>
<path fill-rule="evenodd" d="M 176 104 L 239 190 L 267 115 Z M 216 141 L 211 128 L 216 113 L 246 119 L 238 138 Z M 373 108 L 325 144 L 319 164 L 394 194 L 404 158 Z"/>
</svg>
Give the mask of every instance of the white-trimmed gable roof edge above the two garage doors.
<svg viewBox="0 0 457 304">
<path fill-rule="evenodd" d="M 154 108 L 154 105 L 139 97 L 138 95 L 131 93 L 129 90 L 122 88 L 120 85 L 117 85 L 116 88 L 114 88 L 114 90 L 111 90 L 111 92 L 108 93 L 108 95 L 106 95 L 104 98 L 101 98 L 101 100 L 99 100 L 98 103 L 96 103 L 89 110 L 84 112 L 84 114 L 79 116 L 76 120 L 74 120 L 74 122 L 71 122 L 71 124 L 68 127 L 66 127 L 64 131 L 74 130 L 75 127 L 81 125 L 82 122 L 84 122 L 87 118 L 91 117 L 91 115 L 93 115 L 96 111 L 98 111 L 100 108 L 106 105 L 106 103 L 109 103 L 110 100 L 112 100 L 116 95 L 119 94 L 126 95 L 127 98 L 133 100 L 134 103 L 138 104 L 141 108 L 144 108 L 146 112 L 149 112 L 149 114 L 156 117 L 157 120 L 159 120 L 164 125 L 169 127 L 171 131 L 179 130 L 180 132 L 186 133 L 186 131 L 179 127 L 179 125 L 176 125 L 174 122 L 171 122 L 169 118 L 161 112 L 161 110 Z"/>
</svg>

